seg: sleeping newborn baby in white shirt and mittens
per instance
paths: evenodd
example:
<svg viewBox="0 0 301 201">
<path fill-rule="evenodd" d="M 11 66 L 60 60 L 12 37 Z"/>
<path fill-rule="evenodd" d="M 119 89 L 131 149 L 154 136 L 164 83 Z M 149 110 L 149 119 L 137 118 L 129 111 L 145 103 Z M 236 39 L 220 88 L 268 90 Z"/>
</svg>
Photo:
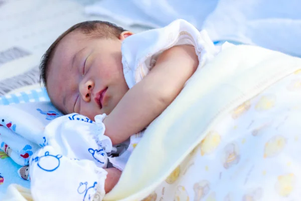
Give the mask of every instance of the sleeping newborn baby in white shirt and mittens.
<svg viewBox="0 0 301 201">
<path fill-rule="evenodd" d="M 46 127 L 48 146 L 31 159 L 35 200 L 101 200 L 141 131 L 217 53 L 184 20 L 139 34 L 89 21 L 63 33 L 40 65 L 51 102 L 66 116 Z"/>
</svg>

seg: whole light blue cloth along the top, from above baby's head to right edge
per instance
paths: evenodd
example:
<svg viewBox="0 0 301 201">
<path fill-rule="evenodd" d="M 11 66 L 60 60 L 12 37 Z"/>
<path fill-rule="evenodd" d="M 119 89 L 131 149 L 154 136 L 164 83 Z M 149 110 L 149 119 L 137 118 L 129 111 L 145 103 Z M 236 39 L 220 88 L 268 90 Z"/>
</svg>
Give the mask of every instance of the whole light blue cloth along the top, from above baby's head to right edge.
<svg viewBox="0 0 301 201">
<path fill-rule="evenodd" d="M 212 40 L 233 40 L 301 56 L 299 0 L 102 0 L 86 12 L 127 25 L 162 27 L 182 18 Z"/>
</svg>

